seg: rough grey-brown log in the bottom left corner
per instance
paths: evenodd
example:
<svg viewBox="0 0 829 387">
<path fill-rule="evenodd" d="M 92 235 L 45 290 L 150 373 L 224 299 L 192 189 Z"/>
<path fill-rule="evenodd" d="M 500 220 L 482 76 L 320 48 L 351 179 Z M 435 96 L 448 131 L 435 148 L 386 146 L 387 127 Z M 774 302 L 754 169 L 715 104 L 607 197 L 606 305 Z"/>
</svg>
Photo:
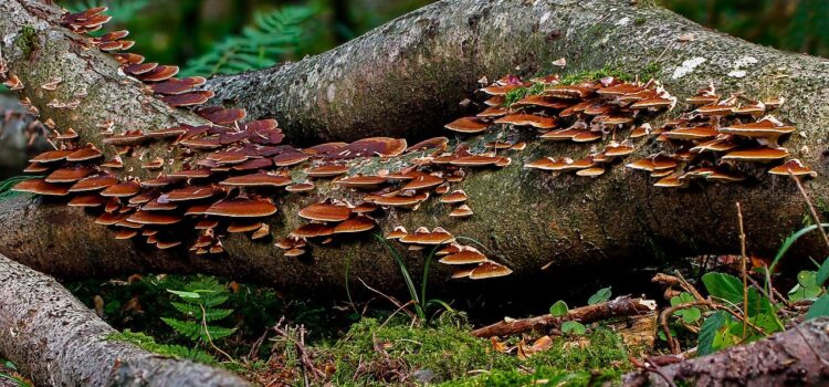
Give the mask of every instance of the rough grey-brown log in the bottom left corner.
<svg viewBox="0 0 829 387">
<path fill-rule="evenodd" d="M 0 356 L 38 386 L 246 386 L 189 360 L 114 342 L 57 281 L 0 255 Z"/>
</svg>

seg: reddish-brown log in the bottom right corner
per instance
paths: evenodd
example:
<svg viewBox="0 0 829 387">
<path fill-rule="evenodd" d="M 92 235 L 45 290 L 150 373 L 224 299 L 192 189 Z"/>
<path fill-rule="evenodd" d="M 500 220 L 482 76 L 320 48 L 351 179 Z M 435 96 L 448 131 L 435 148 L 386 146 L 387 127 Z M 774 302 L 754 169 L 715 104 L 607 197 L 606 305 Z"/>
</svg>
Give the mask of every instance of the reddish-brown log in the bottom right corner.
<svg viewBox="0 0 829 387">
<path fill-rule="evenodd" d="M 823 386 L 829 383 L 829 318 L 718 353 L 630 374 L 625 386 Z"/>
</svg>

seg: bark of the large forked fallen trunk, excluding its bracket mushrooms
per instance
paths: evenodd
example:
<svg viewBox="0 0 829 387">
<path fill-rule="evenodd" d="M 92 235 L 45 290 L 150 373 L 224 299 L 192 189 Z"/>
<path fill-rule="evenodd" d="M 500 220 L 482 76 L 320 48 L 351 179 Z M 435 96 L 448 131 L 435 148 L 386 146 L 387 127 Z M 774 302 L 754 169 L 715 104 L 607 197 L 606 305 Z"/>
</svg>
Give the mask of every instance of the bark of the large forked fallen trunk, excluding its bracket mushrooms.
<svg viewBox="0 0 829 387">
<path fill-rule="evenodd" d="M 449 12 L 455 8 L 464 9 L 462 14 L 465 19 L 458 19 L 457 12 Z M 144 94 L 140 85 L 135 82 L 117 77 L 116 65 L 111 59 L 95 50 L 78 48 L 69 32 L 54 27 L 54 14 L 43 17 L 49 14 L 51 9 L 32 6 L 25 0 L 4 2 L 0 4 L 0 9 L 4 14 L 0 20 L 0 31 L 4 36 L 2 57 L 8 62 L 10 71 L 18 74 L 27 84 L 34 85 L 34 90 L 23 91 L 23 95 L 30 97 L 34 105 L 48 104 L 49 97 L 41 95 L 36 85 L 55 75 L 62 76 L 64 83 L 72 86 L 67 90 L 96 87 L 94 93 L 88 93 L 87 97 L 82 98 L 80 106 L 71 112 L 42 107 L 42 113 L 54 116 L 59 126 L 72 126 L 85 140 L 99 144 L 101 129 L 95 127 L 95 123 L 107 118 L 116 122 L 118 132 L 127 127 L 147 130 L 176 123 L 201 122 L 192 114 L 159 104 L 156 98 Z M 475 28 L 463 30 L 459 20 L 472 23 Z M 19 25 L 27 23 L 36 27 L 36 41 L 40 44 L 38 50 L 24 54 L 24 50 L 12 43 L 21 36 Z M 431 27 L 412 28 L 419 23 Z M 507 32 L 495 33 L 501 31 L 501 28 L 507 28 L 504 30 Z M 468 44 L 452 38 L 459 36 L 461 32 L 470 34 Z M 443 36 L 444 34 L 448 36 Z M 694 38 L 678 41 L 680 35 L 688 34 Z M 426 45 L 419 45 L 421 43 L 417 42 L 423 42 Z M 442 46 L 441 42 L 447 42 L 447 45 Z M 648 42 L 648 45 L 643 45 L 642 42 Z M 283 75 L 280 74 L 283 73 L 280 70 L 274 70 L 254 73 L 259 75 L 245 74 L 223 79 L 234 80 L 231 83 L 238 83 L 242 88 L 233 88 L 230 86 L 231 83 L 223 83 L 225 81 L 217 81 L 212 86 L 218 87 L 222 98 L 240 100 L 252 116 L 270 115 L 271 112 L 256 109 L 261 106 L 295 103 L 304 106 L 302 114 L 306 117 L 318 117 L 318 123 L 308 123 L 307 119 L 311 118 L 296 116 L 300 114 L 296 113 L 296 108 L 292 111 L 285 107 L 286 111 L 293 112 L 284 117 L 288 122 L 283 119 L 288 136 L 313 137 L 304 135 L 303 130 L 307 127 L 308 132 L 316 134 L 315 136 L 342 139 L 378 134 L 379 127 L 388 128 L 389 134 L 409 134 L 395 132 L 395 127 L 431 127 L 434 125 L 433 122 L 403 125 L 393 118 L 393 115 L 411 109 L 414 117 L 438 116 L 434 121 L 443 122 L 445 117 L 440 112 L 444 112 L 445 108 L 447 112 L 451 112 L 449 115 L 455 114 L 458 111 L 451 106 L 454 106 L 464 93 L 471 91 L 474 86 L 473 80 L 481 74 L 492 77 L 518 64 L 520 72 L 532 73 L 547 69 L 546 65 L 559 56 L 567 56 L 570 63 L 568 69 L 574 67 L 573 70 L 617 65 L 636 70 L 643 67 L 644 63 L 658 62 L 658 66 L 662 69 L 660 77 L 667 81 L 670 91 L 680 100 L 710 81 L 731 92 L 743 91 L 747 95 L 759 97 L 786 97 L 788 101 L 778 116 L 795 123 L 801 134 L 791 136 L 786 146 L 793 150 L 794 156 L 802 159 L 819 174 L 818 178 L 807 182 L 807 189 L 816 197 L 816 201 L 829 202 L 826 178 L 829 175 L 829 165 L 821 154 L 826 147 L 826 128 L 829 127 L 829 114 L 826 114 L 829 108 L 829 87 L 826 87 L 829 77 L 826 76 L 826 62 L 820 59 L 785 54 L 724 36 L 659 8 L 630 6 L 628 1 L 610 0 L 567 4 L 538 1 L 533 6 L 471 0 L 444 1 L 393 21 L 351 44 L 323 56 L 312 57 L 305 62 L 306 64 L 300 62 L 282 70 L 290 72 L 284 73 L 284 79 L 281 77 Z M 367 50 L 369 44 L 377 44 L 377 49 Z M 390 45 L 386 44 L 397 44 L 398 49 L 391 50 Z M 462 52 L 476 54 L 459 56 Z M 389 55 L 382 56 L 380 53 Z M 369 82 L 377 83 L 370 83 L 371 86 L 367 86 L 366 90 L 378 96 L 378 104 L 374 104 L 371 101 L 375 100 L 371 98 L 363 98 L 356 94 L 343 96 L 339 92 L 335 93 L 336 98 L 333 97 L 333 101 L 338 104 L 347 102 L 347 105 L 338 108 L 328 108 L 324 102 L 313 98 L 330 84 L 337 85 L 338 90 L 347 90 L 346 86 L 339 87 L 336 82 L 328 85 L 323 85 L 324 82 L 312 82 L 315 74 L 328 73 L 323 66 L 335 61 L 335 57 L 343 59 L 343 63 L 337 65 L 348 69 L 343 73 L 347 76 L 338 79 L 342 82 L 351 80 L 360 72 L 374 74 L 369 76 Z M 457 66 L 447 66 L 447 62 L 441 61 L 458 57 L 463 61 Z M 746 72 L 745 76 L 728 75 L 737 65 L 737 60 L 744 57 L 753 59 L 743 61 L 751 62 L 742 64 Z M 499 59 L 500 64 L 492 62 L 495 59 Z M 696 67 L 683 64 L 691 59 L 696 59 L 693 63 L 702 61 L 702 64 Z M 38 66 L 30 65 L 35 62 Z M 95 70 L 78 72 L 76 69 L 84 69 L 84 63 L 92 63 L 90 66 Z M 471 63 L 475 65 L 472 66 Z M 388 72 L 368 72 L 368 69 L 372 67 L 385 69 Z M 334 74 L 342 70 L 337 69 L 332 69 L 329 73 Z M 427 72 L 434 69 L 443 70 L 436 75 L 438 81 L 429 81 Z M 303 83 L 303 79 L 308 83 Z M 387 88 L 380 90 L 381 81 L 387 82 L 384 86 Z M 284 85 L 282 87 L 287 87 L 285 90 L 296 90 L 300 94 L 288 94 L 291 97 L 279 97 L 271 101 L 273 103 L 269 102 L 270 100 L 244 102 L 248 101 L 244 100 L 248 94 L 263 97 L 276 97 L 280 94 L 256 88 L 256 84 L 263 87 Z M 445 85 L 447 88 L 438 87 L 439 84 Z M 419 92 L 421 88 L 418 85 L 423 85 L 422 88 L 427 92 Z M 305 92 L 302 92 L 303 90 Z M 316 92 L 313 92 L 315 90 Z M 405 96 L 405 101 L 379 97 L 388 93 Z M 372 106 L 372 109 L 379 108 L 380 105 L 382 111 L 391 116 L 388 119 L 374 119 L 377 115 L 361 111 L 363 104 Z M 413 106 L 429 108 L 418 109 Z M 370 130 L 358 130 L 354 134 L 346 133 L 344 127 L 330 133 L 318 130 L 322 125 L 340 121 L 351 129 L 369 127 L 345 119 L 340 115 L 345 111 L 361 112 L 360 114 L 367 115 L 367 122 L 382 125 L 370 126 Z M 336 128 L 337 125 L 330 127 Z M 437 130 L 437 127 L 434 129 Z M 418 134 L 421 135 L 426 133 Z M 482 144 L 494 139 L 496 135 L 489 133 L 470 137 L 468 143 L 480 149 Z M 470 206 L 475 210 L 472 218 L 452 220 L 447 217 L 445 206 L 437 200 L 430 200 L 417 211 L 388 211 L 381 220 L 382 230 L 388 232 L 398 224 L 406 226 L 409 230 L 419 226 L 442 226 L 455 236 L 472 238 L 484 244 L 487 255 L 515 271 L 514 282 L 526 282 L 524 279 L 535 278 L 539 281 L 534 283 L 543 284 L 549 280 L 558 282 L 566 278 L 565 273 L 571 274 L 573 270 L 580 268 L 600 270 L 601 266 L 606 266 L 618 271 L 643 261 L 652 262 L 655 258 L 670 259 L 700 252 L 736 251 L 736 201 L 743 203 L 749 250 L 754 254 L 768 255 L 777 249 L 783 237 L 800 227 L 806 213 L 802 198 L 785 177 L 762 176 L 762 179 L 744 184 L 665 190 L 653 187 L 652 181 L 643 175 L 621 166 L 611 168 L 597 179 L 571 175 L 552 176 L 523 168 L 525 163 L 541 156 L 578 158 L 588 150 L 584 146 L 573 144 L 550 145 L 533 140 L 527 150 L 512 156 L 513 163 L 510 167 L 473 171 L 463 182 L 453 186 L 453 189 L 461 188 L 468 192 Z M 648 155 L 653 150 L 657 150 L 655 145 L 644 144 L 631 158 Z M 176 151 L 176 148 L 169 149 L 161 144 L 148 147 L 146 157 L 168 157 Z M 132 163 L 128 167 L 133 167 L 134 175 L 141 176 L 137 167 L 139 160 L 132 159 L 128 163 Z M 350 166 L 351 172 L 356 174 L 374 172 L 380 168 L 396 170 L 406 164 L 406 158 L 395 158 L 371 163 L 356 160 Z M 179 167 L 179 164 L 172 164 L 165 166 L 165 170 L 175 170 Z M 296 168 L 292 174 L 302 178 L 304 175 L 301 169 Z M 317 189 L 311 196 L 288 195 L 280 198 L 281 217 L 269 221 L 274 237 L 284 237 L 303 223 L 296 216 L 301 208 L 326 198 L 357 200 L 359 197 L 350 191 L 334 189 L 324 181 L 317 185 Z M 826 210 L 826 207 L 822 206 L 820 209 Z M 145 250 L 140 244 L 114 241 L 111 231 L 93 224 L 92 218 L 83 217 L 81 212 L 52 205 L 50 201 L 3 201 L 0 203 L 0 252 L 64 279 L 136 271 L 199 271 L 304 291 L 338 290 L 345 281 L 345 273 L 349 272 L 353 281 L 361 278 L 379 289 L 402 286 L 393 260 L 370 238 L 337 247 L 316 247 L 313 250 L 313 264 L 284 259 L 281 251 L 271 243 L 251 242 L 241 236 L 231 236 L 224 241 L 228 257 L 186 258 L 183 251 L 164 253 Z M 817 241 L 817 238 L 804 239 L 791 254 L 821 257 L 825 251 Z M 413 271 L 421 269 L 421 257 L 409 254 L 408 261 Z M 550 262 L 553 264 L 549 269 L 542 272 L 541 268 Z M 567 269 L 570 271 L 566 271 Z M 430 279 L 432 284 L 444 286 L 449 269 L 439 270 L 440 274 Z M 592 275 L 591 272 L 581 273 L 583 278 Z M 495 289 L 490 287 L 490 291 Z"/>
</svg>

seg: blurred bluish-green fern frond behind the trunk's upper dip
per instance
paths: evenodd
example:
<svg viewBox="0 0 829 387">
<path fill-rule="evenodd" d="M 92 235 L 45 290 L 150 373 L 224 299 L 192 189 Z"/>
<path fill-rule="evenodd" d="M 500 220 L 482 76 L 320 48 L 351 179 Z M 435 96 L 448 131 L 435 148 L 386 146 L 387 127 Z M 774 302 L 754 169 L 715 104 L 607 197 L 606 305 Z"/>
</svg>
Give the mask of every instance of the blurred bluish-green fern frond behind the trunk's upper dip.
<svg viewBox="0 0 829 387">
<path fill-rule="evenodd" d="M 254 23 L 241 35 L 228 36 L 210 52 L 190 60 L 181 76 L 234 74 L 279 63 L 306 39 L 304 24 L 316 14 L 308 6 L 287 6 L 254 14 Z"/>
</svg>

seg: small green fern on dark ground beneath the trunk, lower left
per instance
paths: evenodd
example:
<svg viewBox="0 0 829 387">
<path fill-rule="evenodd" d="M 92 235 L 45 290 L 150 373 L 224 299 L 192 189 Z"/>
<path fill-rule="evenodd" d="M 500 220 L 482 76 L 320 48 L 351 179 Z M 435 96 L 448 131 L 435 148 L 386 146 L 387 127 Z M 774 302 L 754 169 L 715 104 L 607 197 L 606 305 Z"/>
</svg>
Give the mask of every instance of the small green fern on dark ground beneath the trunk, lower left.
<svg viewBox="0 0 829 387">
<path fill-rule="evenodd" d="M 214 278 L 201 276 L 187 283 L 180 291 L 167 291 L 178 297 L 178 301 L 171 301 L 170 304 L 182 316 L 161 317 L 161 321 L 179 335 L 196 343 L 204 343 L 235 333 L 235 328 L 209 324 L 233 314 L 233 310 L 219 307 L 228 302 L 230 293 Z"/>
</svg>

